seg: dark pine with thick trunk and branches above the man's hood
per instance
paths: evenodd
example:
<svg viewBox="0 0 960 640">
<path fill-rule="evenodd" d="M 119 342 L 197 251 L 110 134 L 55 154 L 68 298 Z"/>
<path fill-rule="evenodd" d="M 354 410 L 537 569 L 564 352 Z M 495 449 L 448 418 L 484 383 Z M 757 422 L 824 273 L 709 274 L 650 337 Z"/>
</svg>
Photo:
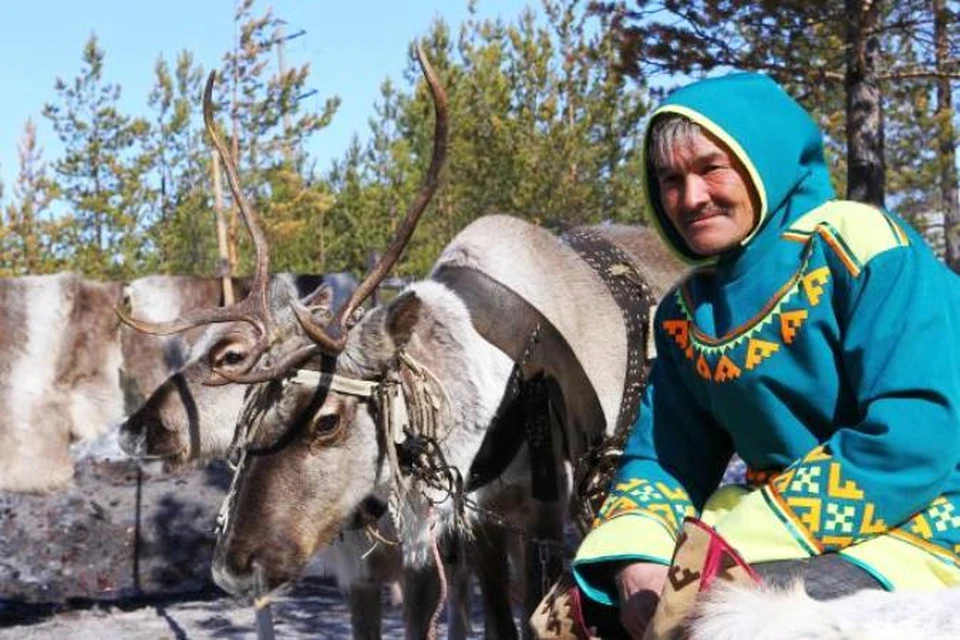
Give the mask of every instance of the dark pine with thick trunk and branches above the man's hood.
<svg viewBox="0 0 960 640">
<path fill-rule="evenodd" d="M 595 7 L 614 16 L 633 73 L 700 76 L 734 68 L 772 75 L 826 125 L 828 148 L 844 156 L 833 164 L 845 171 L 838 182 L 848 197 L 879 205 L 885 201 L 882 92 L 943 75 L 927 60 L 890 55 L 896 39 L 932 25 L 927 0 L 636 0 Z"/>
</svg>

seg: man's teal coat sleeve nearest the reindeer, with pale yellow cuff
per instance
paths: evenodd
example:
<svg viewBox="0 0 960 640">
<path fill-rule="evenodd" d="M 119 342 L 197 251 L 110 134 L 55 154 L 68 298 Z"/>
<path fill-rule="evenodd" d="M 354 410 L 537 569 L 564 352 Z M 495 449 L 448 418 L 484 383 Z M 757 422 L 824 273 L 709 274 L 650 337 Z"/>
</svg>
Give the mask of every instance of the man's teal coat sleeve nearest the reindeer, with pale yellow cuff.
<svg viewBox="0 0 960 640">
<path fill-rule="evenodd" d="M 658 314 L 659 315 L 659 314 Z M 717 487 L 732 445 L 685 387 L 657 322 L 659 354 L 607 498 L 574 560 L 588 597 L 616 603 L 624 562 L 670 564 L 677 533 Z"/>
</svg>

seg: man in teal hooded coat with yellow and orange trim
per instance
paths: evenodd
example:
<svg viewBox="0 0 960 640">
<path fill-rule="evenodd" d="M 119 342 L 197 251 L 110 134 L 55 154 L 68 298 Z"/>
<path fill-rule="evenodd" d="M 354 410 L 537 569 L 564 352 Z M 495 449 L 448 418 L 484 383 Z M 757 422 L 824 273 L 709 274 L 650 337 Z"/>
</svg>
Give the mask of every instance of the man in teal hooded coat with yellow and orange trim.
<svg viewBox="0 0 960 640">
<path fill-rule="evenodd" d="M 820 131 L 762 75 L 654 112 L 645 188 L 697 268 L 574 573 L 641 637 L 677 532 L 703 516 L 813 597 L 960 585 L 960 289 L 885 211 L 836 200 Z M 752 490 L 716 492 L 738 453 Z"/>
</svg>

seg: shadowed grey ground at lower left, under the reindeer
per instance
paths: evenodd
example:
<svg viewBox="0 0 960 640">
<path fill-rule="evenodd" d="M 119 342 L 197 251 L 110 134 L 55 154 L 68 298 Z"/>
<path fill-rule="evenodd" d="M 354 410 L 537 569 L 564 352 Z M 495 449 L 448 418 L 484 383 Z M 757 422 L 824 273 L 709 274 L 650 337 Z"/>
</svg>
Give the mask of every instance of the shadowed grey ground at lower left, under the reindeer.
<svg viewBox="0 0 960 640">
<path fill-rule="evenodd" d="M 253 608 L 210 579 L 229 479 L 223 463 L 165 473 L 158 464 L 85 460 L 61 491 L 0 493 L 0 639 L 257 637 Z M 277 638 L 350 637 L 331 574 L 321 555 L 274 601 Z M 383 638 L 402 638 L 402 607 L 386 588 L 383 598 Z M 482 636 L 479 610 L 472 637 Z"/>
</svg>

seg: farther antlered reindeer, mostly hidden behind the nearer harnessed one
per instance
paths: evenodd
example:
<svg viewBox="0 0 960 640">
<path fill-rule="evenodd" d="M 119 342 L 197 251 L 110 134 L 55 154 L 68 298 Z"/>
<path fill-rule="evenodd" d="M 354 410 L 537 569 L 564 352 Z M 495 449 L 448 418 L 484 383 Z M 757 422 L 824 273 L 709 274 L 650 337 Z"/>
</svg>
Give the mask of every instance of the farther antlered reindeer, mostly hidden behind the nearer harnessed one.
<svg viewBox="0 0 960 640">
<path fill-rule="evenodd" d="M 422 60 L 424 71 L 428 65 Z M 437 174 L 442 164 L 446 140 L 446 98 L 436 81 L 432 70 L 429 72 L 430 86 L 434 91 L 437 103 L 437 127 L 434 159 L 428 177 L 428 184 L 424 193 L 418 198 L 414 207 L 422 209 L 429 201 L 427 191 L 432 193 L 436 188 Z M 218 308 L 185 314 L 183 318 L 174 322 L 148 322 L 128 317 L 122 310 L 118 310 L 121 319 L 128 325 L 152 334 L 169 335 L 188 330 L 192 327 L 205 324 L 216 324 L 202 338 L 194 348 L 194 355 L 184 367 L 167 381 L 165 381 L 145 405 L 124 423 L 121 429 L 121 442 L 131 453 L 160 455 L 168 459 L 173 465 L 206 456 L 216 456 L 227 451 L 230 434 L 233 433 L 233 424 L 236 422 L 237 408 L 243 395 L 241 387 L 232 385 L 232 382 L 243 382 L 236 377 L 249 369 L 253 363 L 271 360 L 276 353 L 271 350 L 273 343 L 289 344 L 296 342 L 296 335 L 301 334 L 301 341 L 309 342 L 309 337 L 303 333 L 300 320 L 306 315 L 322 315 L 330 306 L 330 291 L 321 288 L 308 296 L 307 300 L 294 300 L 289 292 L 280 284 L 270 286 L 267 273 L 269 268 L 269 254 L 263 238 L 262 227 L 256 213 L 246 206 L 239 191 L 239 180 L 236 175 L 236 166 L 225 151 L 212 125 L 210 107 L 210 93 L 212 91 L 213 76 L 211 75 L 204 94 L 204 119 L 207 131 L 213 139 L 218 153 L 226 166 L 228 184 L 234 197 L 240 203 L 243 220 L 253 239 L 256 250 L 256 267 L 249 294 L 244 300 L 227 309 Z M 413 224 L 407 223 L 409 232 Z M 409 232 L 407 237 L 409 237 Z M 406 240 L 403 241 L 405 243 Z M 397 243 L 402 244 L 402 243 Z M 374 271 L 380 275 L 368 278 L 365 285 L 366 298 L 377 286 L 383 275 L 396 260 L 399 249 L 394 251 L 394 257 L 382 261 Z M 361 298 L 361 299 L 362 299 Z M 296 302 L 296 304 L 293 304 Z M 342 306 L 342 305 L 340 305 Z M 354 304 L 354 306 L 356 306 Z M 299 318 L 294 318 L 293 313 Z M 315 318 L 315 322 L 327 321 L 329 318 Z M 299 356 L 294 354 L 293 361 Z M 230 420 L 229 416 L 234 419 Z M 223 428 L 229 423 L 229 429 Z M 373 507 L 371 508 L 371 505 Z M 369 524 L 371 511 L 377 511 L 377 501 L 366 498 L 362 508 L 350 514 L 346 522 L 354 521 L 358 517 Z M 384 526 L 381 519 L 381 527 Z M 386 526 L 389 526 L 387 519 Z M 350 528 L 348 528 L 350 529 Z M 385 532 L 388 536 L 389 531 Z M 370 542 L 366 538 L 359 539 L 360 534 L 347 530 L 341 532 L 339 544 L 335 544 L 331 554 L 335 559 L 338 582 L 349 585 L 351 613 L 354 623 L 355 637 L 379 637 L 379 587 L 385 580 L 395 577 L 399 566 L 399 556 L 395 548 L 381 545 L 371 553 Z M 378 534 L 380 540 L 385 538 Z M 359 549 L 366 551 L 364 561 L 359 562 Z M 440 574 L 442 577 L 442 574 Z M 469 630 L 469 593 L 467 590 L 469 575 L 465 574 L 462 563 L 454 569 L 455 594 L 462 603 L 451 610 L 450 635 L 454 638 L 465 637 Z M 418 567 L 404 576 L 405 603 L 408 611 L 408 635 L 421 637 L 426 634 L 422 616 L 424 601 L 436 601 L 442 586 L 437 583 L 432 571 Z M 509 608 L 506 611 L 507 622 L 493 623 L 494 625 L 511 625 Z M 421 630 L 422 629 L 422 630 Z"/>
</svg>

